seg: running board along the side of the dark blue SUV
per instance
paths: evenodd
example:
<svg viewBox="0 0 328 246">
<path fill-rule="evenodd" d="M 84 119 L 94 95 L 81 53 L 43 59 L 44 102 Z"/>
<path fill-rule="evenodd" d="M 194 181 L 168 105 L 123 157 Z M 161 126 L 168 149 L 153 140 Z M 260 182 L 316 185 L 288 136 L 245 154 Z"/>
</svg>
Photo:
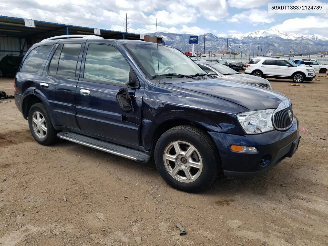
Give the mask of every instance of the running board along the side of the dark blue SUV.
<svg viewBox="0 0 328 246">
<path fill-rule="evenodd" d="M 110 154 L 115 154 L 138 162 L 148 162 L 151 158 L 150 155 L 137 151 L 131 148 L 123 147 L 120 145 L 107 143 L 92 137 L 84 136 L 72 132 L 58 133 L 57 137 L 78 143 L 96 150 L 101 150 Z"/>
</svg>

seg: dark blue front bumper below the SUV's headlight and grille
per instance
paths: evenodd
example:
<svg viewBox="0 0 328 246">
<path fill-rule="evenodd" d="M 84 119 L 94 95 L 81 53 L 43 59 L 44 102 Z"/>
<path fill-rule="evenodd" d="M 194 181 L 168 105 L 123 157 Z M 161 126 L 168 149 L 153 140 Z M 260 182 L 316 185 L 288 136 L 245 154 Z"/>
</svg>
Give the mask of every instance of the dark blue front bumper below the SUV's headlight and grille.
<svg viewBox="0 0 328 246">
<path fill-rule="evenodd" d="M 295 117 L 295 116 L 294 116 Z M 286 157 L 292 157 L 300 139 L 297 118 L 286 131 L 254 135 L 233 135 L 210 132 L 221 156 L 224 175 L 248 178 L 269 171 Z M 233 152 L 231 145 L 251 146 L 256 153 Z"/>
</svg>

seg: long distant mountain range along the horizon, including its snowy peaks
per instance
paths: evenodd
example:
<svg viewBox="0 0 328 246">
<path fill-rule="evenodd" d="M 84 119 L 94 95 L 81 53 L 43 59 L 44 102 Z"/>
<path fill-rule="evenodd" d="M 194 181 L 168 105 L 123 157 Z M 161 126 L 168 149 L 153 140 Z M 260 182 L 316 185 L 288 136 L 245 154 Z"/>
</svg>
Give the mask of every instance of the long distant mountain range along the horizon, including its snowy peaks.
<svg viewBox="0 0 328 246">
<path fill-rule="evenodd" d="M 156 33 L 149 33 L 156 36 Z M 191 51 L 192 45 L 189 44 L 191 34 L 177 34 L 158 32 L 162 36 L 166 45 L 170 45 L 180 51 Z M 228 46 L 227 46 L 228 41 Z M 262 49 L 262 52 L 261 52 Z M 248 32 L 245 34 L 229 34 L 224 37 L 215 36 L 212 33 L 205 34 L 205 53 L 231 51 L 239 53 L 248 52 L 253 55 L 265 54 L 266 51 L 272 53 L 289 54 L 290 52 L 305 54 L 326 54 L 328 50 L 328 38 L 317 34 L 295 34 L 285 33 L 275 29 Z M 198 44 L 195 44 L 195 52 L 204 52 L 204 35 L 198 36 Z"/>
</svg>

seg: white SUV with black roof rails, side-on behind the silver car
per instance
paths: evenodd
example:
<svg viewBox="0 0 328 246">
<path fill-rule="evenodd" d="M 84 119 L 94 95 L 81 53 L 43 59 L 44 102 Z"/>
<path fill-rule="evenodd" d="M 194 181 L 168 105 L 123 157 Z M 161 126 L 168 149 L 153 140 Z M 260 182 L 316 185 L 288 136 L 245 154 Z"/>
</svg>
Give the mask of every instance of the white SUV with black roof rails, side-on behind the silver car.
<svg viewBox="0 0 328 246">
<path fill-rule="evenodd" d="M 292 79 L 295 83 L 311 81 L 316 72 L 311 67 L 297 66 L 295 63 L 282 58 L 257 57 L 246 65 L 246 74 L 262 78 Z"/>
</svg>

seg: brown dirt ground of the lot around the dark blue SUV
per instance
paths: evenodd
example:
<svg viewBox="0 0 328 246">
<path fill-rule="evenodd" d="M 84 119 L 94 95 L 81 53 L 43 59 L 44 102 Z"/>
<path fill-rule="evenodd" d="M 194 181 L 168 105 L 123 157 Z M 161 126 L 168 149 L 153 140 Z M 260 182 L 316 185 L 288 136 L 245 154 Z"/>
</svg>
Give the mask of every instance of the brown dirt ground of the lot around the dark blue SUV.
<svg viewBox="0 0 328 246">
<path fill-rule="evenodd" d="M 202 194 L 170 188 L 154 162 L 68 141 L 39 145 L 13 99 L 1 102 L 0 244 L 137 245 L 141 236 L 150 246 L 328 245 L 328 78 L 317 79 L 305 87 L 271 80 L 306 129 L 296 154 Z M 0 79 L 0 89 L 12 94 L 13 79 Z M 179 222 L 187 235 L 179 236 Z"/>
</svg>

